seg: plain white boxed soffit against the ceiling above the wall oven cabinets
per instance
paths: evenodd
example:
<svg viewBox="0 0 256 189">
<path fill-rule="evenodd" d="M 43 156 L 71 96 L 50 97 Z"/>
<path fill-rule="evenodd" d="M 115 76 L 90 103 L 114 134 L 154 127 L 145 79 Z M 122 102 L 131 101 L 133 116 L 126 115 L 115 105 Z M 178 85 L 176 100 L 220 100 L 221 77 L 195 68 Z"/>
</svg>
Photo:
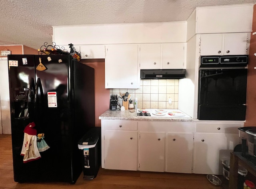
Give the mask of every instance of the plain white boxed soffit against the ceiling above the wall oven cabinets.
<svg viewBox="0 0 256 189">
<path fill-rule="evenodd" d="M 198 33 L 252 32 L 253 3 L 197 7 L 187 20 L 187 41 Z"/>
</svg>

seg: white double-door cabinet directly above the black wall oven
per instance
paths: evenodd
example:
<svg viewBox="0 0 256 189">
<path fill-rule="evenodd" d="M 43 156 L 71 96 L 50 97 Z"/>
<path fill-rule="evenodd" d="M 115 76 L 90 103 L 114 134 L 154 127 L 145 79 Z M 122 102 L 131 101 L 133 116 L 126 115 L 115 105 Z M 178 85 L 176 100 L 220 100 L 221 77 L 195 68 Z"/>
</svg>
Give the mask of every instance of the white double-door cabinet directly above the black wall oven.
<svg viewBox="0 0 256 189">
<path fill-rule="evenodd" d="M 200 55 L 248 54 L 248 33 L 202 34 L 200 38 Z"/>
</svg>

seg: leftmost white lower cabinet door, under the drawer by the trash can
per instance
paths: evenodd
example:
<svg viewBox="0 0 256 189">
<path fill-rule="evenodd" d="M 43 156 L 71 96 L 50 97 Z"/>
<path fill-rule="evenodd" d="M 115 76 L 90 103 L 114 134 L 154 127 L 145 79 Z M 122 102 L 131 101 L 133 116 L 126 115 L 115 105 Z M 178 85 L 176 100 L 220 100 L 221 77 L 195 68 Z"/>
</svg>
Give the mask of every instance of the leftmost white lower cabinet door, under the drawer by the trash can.
<svg viewBox="0 0 256 189">
<path fill-rule="evenodd" d="M 137 131 L 105 130 L 105 168 L 137 170 Z"/>
</svg>

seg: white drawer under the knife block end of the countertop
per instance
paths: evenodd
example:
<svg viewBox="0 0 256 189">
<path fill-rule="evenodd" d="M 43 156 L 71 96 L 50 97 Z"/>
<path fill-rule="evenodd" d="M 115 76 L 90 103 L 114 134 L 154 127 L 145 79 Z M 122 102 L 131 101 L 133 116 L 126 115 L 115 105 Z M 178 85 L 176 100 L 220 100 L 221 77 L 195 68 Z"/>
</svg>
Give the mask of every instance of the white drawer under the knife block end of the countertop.
<svg viewBox="0 0 256 189">
<path fill-rule="evenodd" d="M 138 122 L 135 121 L 105 121 L 105 130 L 137 130 Z"/>
</svg>

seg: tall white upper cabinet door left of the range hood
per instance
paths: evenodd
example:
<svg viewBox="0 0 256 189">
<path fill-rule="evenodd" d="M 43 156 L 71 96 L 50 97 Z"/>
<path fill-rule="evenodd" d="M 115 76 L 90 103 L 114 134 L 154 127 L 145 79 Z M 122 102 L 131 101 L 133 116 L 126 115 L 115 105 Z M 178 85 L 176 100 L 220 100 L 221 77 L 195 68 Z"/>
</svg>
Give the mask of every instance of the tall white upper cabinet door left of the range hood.
<svg viewBox="0 0 256 189">
<path fill-rule="evenodd" d="M 138 45 L 107 45 L 105 59 L 106 89 L 138 89 Z"/>
</svg>

